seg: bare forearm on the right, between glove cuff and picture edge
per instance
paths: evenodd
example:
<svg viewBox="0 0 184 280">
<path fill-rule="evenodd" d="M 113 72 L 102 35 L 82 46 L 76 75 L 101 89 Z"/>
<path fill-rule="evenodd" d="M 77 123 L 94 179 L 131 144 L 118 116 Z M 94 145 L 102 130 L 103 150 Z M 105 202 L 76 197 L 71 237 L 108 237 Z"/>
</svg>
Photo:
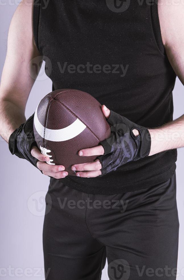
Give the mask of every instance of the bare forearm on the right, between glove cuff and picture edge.
<svg viewBox="0 0 184 280">
<path fill-rule="evenodd" d="M 152 142 L 149 155 L 184 147 L 184 115 L 161 127 L 148 130 Z"/>
</svg>

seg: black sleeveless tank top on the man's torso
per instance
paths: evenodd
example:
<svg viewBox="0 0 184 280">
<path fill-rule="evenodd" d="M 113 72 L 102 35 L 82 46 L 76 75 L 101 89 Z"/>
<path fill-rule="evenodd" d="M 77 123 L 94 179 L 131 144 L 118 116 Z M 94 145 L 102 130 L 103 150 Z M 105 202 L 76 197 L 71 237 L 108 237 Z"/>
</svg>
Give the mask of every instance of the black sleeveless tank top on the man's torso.
<svg viewBox="0 0 184 280">
<path fill-rule="evenodd" d="M 176 75 L 161 38 L 158 6 L 145 0 L 35 0 L 34 38 L 53 90 L 86 91 L 149 128 L 173 118 Z M 166 181 L 177 150 L 129 162 L 103 177 L 61 181 L 85 193 L 134 191 Z"/>
</svg>

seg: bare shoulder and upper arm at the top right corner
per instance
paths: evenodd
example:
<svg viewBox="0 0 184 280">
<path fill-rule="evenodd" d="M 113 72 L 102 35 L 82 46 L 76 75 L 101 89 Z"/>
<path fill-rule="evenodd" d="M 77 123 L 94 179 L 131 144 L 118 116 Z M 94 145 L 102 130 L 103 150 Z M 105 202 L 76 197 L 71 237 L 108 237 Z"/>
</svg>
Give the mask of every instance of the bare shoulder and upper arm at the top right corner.
<svg viewBox="0 0 184 280">
<path fill-rule="evenodd" d="M 184 85 L 184 1 L 158 0 L 158 14 L 166 54 Z"/>
</svg>

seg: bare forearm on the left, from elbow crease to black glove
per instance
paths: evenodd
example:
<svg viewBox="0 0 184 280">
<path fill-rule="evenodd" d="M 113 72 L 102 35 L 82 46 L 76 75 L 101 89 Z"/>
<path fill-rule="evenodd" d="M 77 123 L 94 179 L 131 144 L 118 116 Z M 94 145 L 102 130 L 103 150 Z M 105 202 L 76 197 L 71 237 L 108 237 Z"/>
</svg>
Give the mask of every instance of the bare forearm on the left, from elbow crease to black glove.
<svg viewBox="0 0 184 280">
<path fill-rule="evenodd" d="M 7 100 L 0 100 L 0 135 L 8 142 L 11 133 L 25 123 L 24 111 L 16 104 Z"/>
</svg>

